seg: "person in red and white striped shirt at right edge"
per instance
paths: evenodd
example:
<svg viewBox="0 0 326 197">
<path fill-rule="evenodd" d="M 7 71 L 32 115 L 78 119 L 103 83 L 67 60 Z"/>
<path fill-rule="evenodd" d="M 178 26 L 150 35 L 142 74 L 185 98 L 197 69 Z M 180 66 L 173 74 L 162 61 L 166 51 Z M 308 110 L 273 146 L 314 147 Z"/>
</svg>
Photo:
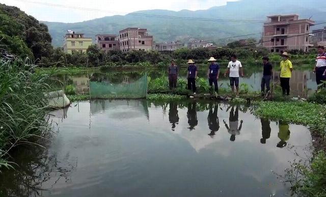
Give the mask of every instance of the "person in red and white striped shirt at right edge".
<svg viewBox="0 0 326 197">
<path fill-rule="evenodd" d="M 326 53 L 323 46 L 318 46 L 318 55 L 314 72 L 316 73 L 316 82 L 319 87 L 319 85 L 322 84 L 322 80 L 326 80 Z M 323 85 L 323 87 L 325 86 Z"/>
</svg>

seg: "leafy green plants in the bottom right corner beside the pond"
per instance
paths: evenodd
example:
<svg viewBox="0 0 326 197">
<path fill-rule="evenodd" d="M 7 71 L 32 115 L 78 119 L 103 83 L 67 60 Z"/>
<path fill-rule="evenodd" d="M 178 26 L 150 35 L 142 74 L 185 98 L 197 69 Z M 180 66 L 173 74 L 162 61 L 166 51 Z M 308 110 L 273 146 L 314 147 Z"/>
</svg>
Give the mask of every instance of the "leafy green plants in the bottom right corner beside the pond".
<svg viewBox="0 0 326 197">
<path fill-rule="evenodd" d="M 286 170 L 286 182 L 297 196 L 326 196 L 326 154 L 319 151 L 311 162 L 293 162 Z"/>
</svg>

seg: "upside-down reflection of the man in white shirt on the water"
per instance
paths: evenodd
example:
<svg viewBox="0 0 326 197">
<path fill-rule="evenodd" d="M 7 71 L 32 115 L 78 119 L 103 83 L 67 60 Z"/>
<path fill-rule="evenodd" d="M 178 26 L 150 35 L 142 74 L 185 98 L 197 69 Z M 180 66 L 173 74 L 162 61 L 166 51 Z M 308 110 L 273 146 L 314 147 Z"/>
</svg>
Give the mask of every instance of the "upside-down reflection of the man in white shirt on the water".
<svg viewBox="0 0 326 197">
<path fill-rule="evenodd" d="M 232 141 L 232 142 L 235 141 L 235 135 L 240 134 L 240 130 L 241 130 L 242 123 L 243 123 L 243 121 L 241 120 L 240 121 L 240 126 L 238 128 L 238 123 L 239 123 L 238 117 L 239 117 L 239 108 L 238 108 L 238 106 L 236 106 L 235 111 L 234 111 L 234 106 L 232 106 L 231 111 L 230 111 L 230 118 L 229 118 L 230 128 L 226 124 L 225 120 L 223 120 L 226 129 L 231 134 L 230 141 Z"/>
</svg>

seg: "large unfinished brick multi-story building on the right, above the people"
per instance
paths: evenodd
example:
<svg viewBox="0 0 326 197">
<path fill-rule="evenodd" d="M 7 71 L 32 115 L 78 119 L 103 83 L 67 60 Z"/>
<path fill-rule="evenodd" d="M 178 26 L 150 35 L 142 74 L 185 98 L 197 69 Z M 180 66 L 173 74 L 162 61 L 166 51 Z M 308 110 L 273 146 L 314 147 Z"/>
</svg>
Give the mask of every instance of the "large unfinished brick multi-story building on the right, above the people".
<svg viewBox="0 0 326 197">
<path fill-rule="evenodd" d="M 310 19 L 299 19 L 298 15 L 268 16 L 264 23 L 263 46 L 270 52 L 292 49 L 309 51 L 310 26 L 315 22 Z"/>
</svg>

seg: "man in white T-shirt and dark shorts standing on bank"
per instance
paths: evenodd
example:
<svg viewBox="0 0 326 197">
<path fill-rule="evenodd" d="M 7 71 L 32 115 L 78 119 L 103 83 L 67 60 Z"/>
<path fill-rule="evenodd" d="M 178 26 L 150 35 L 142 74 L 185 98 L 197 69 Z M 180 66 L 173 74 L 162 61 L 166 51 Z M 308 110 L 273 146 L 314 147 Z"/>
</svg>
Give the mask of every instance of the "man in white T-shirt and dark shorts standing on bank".
<svg viewBox="0 0 326 197">
<path fill-rule="evenodd" d="M 234 86 L 236 88 L 236 95 L 239 95 L 239 71 L 241 72 L 241 76 L 243 77 L 243 70 L 240 61 L 236 60 L 236 55 L 231 55 L 231 62 L 229 62 L 228 69 L 224 73 L 224 77 L 226 74 L 230 73 L 230 86 L 232 89 L 232 93 L 234 92 Z"/>
</svg>

